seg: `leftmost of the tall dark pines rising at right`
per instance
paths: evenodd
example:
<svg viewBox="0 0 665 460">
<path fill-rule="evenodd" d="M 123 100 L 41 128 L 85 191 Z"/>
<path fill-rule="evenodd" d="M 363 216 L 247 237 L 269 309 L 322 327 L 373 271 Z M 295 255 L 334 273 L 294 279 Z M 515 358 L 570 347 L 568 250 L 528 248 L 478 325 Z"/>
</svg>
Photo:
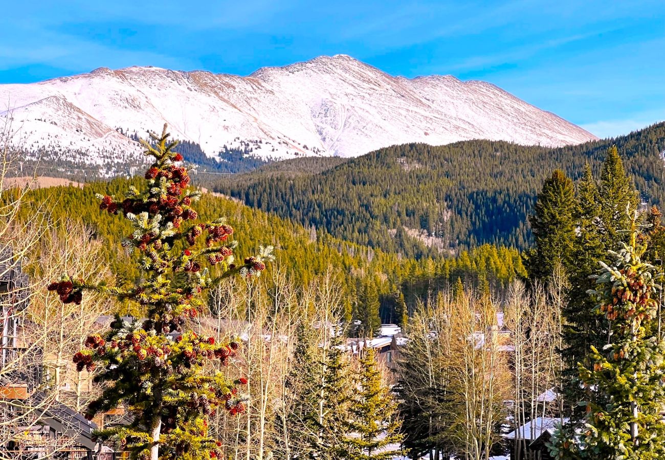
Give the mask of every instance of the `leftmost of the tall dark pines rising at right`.
<svg viewBox="0 0 665 460">
<path fill-rule="evenodd" d="M 555 267 L 566 270 L 573 261 L 575 187 L 560 170 L 545 180 L 534 213 L 529 217 L 534 247 L 526 260 L 529 278 L 546 281 Z"/>
</svg>

